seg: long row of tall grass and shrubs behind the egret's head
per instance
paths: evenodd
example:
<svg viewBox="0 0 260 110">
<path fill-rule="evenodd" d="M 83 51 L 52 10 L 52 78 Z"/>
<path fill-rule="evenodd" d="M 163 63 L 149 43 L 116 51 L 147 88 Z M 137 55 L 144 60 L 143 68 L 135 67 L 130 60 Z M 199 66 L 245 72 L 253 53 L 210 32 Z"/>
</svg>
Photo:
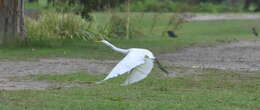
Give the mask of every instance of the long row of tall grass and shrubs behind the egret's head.
<svg viewBox="0 0 260 110">
<path fill-rule="evenodd" d="M 129 24 L 129 37 L 144 36 L 133 22 Z M 126 17 L 117 15 L 107 23 L 98 24 L 95 17 L 86 21 L 72 13 L 45 12 L 37 17 L 27 17 L 25 24 L 29 45 L 58 46 L 70 40 L 126 39 L 128 22 Z"/>
</svg>

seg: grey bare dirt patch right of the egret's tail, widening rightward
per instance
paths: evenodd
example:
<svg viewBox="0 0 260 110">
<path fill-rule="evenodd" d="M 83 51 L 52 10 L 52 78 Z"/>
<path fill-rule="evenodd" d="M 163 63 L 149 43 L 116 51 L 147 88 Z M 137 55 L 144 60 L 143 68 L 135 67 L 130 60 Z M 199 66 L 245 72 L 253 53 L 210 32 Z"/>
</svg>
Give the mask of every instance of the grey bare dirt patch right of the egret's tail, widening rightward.
<svg viewBox="0 0 260 110">
<path fill-rule="evenodd" d="M 168 65 L 260 71 L 260 42 L 241 41 L 215 47 L 188 48 L 159 56 Z"/>
</svg>

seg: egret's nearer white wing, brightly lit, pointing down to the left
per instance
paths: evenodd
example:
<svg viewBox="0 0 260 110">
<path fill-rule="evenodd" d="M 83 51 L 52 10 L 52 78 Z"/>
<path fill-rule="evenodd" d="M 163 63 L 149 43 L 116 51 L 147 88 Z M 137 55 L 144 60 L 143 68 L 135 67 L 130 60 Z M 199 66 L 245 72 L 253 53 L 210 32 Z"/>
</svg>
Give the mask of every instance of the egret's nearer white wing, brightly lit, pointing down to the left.
<svg viewBox="0 0 260 110">
<path fill-rule="evenodd" d="M 144 54 L 140 54 L 139 52 L 129 52 L 123 60 L 121 60 L 108 74 L 108 76 L 104 80 L 108 80 L 110 78 L 117 77 L 124 73 L 131 71 L 133 68 L 144 64 Z"/>
</svg>

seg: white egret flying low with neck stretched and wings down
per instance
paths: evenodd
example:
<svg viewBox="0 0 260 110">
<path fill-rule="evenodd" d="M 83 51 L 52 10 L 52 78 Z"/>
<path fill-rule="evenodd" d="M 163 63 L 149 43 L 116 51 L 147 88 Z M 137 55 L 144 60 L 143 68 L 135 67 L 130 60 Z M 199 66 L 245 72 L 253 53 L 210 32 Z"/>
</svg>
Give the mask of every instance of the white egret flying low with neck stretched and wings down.
<svg viewBox="0 0 260 110">
<path fill-rule="evenodd" d="M 155 58 L 153 53 L 147 49 L 130 48 L 121 49 L 118 48 L 106 40 L 96 41 L 102 42 L 114 51 L 126 54 L 126 56 L 112 69 L 112 71 L 106 76 L 105 79 L 98 83 L 102 83 L 108 79 L 118 77 L 120 75 L 129 73 L 130 75 L 122 85 L 129 85 L 137 83 L 148 76 L 154 66 L 154 61 L 159 65 L 158 67 L 168 74 L 159 61 Z"/>
</svg>

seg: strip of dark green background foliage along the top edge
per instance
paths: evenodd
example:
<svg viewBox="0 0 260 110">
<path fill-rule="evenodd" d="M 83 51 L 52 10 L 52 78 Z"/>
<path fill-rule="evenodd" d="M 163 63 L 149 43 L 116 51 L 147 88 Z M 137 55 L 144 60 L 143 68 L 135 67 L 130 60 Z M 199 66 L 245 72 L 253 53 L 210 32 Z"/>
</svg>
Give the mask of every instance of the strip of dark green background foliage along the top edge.
<svg viewBox="0 0 260 110">
<path fill-rule="evenodd" d="M 58 11 L 74 11 L 82 16 L 93 11 L 116 8 L 126 11 L 127 0 L 55 0 L 48 3 L 26 3 L 26 8 L 54 8 Z M 54 4 L 54 6 L 52 6 Z M 259 0 L 131 0 L 132 11 L 143 12 L 237 12 L 259 11 Z"/>
</svg>

